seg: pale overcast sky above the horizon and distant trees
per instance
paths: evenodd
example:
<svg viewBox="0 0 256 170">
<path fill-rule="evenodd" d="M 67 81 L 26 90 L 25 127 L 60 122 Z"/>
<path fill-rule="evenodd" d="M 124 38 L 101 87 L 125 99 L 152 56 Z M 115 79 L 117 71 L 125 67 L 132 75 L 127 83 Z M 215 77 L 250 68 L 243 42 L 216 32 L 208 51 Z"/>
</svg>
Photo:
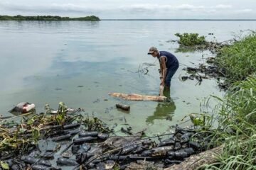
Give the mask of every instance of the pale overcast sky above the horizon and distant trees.
<svg viewBox="0 0 256 170">
<path fill-rule="evenodd" d="M 0 0 L 0 15 L 101 19 L 256 19 L 255 0 Z"/>
</svg>

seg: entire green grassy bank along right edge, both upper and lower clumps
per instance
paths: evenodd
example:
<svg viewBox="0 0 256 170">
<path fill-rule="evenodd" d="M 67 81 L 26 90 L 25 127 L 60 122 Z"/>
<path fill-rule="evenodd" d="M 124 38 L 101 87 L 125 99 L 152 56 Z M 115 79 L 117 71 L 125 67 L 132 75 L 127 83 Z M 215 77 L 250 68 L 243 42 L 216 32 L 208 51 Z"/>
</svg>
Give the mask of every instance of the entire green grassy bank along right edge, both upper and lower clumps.
<svg viewBox="0 0 256 170">
<path fill-rule="evenodd" d="M 256 35 L 252 32 L 233 45 L 223 47 L 215 60 L 230 88 L 216 113 L 200 124 L 208 147 L 223 145 L 218 162 L 202 169 L 256 169 Z M 213 121 L 217 120 L 213 126 Z M 216 122 L 215 122 L 216 123 Z"/>
</svg>

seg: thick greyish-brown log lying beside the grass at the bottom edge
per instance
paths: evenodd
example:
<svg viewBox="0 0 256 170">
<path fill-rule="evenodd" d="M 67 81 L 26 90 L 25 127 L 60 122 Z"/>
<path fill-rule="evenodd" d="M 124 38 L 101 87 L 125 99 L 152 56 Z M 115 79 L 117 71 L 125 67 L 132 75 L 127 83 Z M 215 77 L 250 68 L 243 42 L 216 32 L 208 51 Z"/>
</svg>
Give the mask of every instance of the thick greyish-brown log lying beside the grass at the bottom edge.
<svg viewBox="0 0 256 170">
<path fill-rule="evenodd" d="M 201 152 L 199 154 L 192 155 L 185 159 L 181 164 L 174 164 L 164 170 L 193 170 L 198 169 L 204 164 L 213 164 L 217 162 L 217 155 L 221 154 L 223 151 L 223 145 L 220 147 L 215 147 L 213 149 Z"/>
</svg>

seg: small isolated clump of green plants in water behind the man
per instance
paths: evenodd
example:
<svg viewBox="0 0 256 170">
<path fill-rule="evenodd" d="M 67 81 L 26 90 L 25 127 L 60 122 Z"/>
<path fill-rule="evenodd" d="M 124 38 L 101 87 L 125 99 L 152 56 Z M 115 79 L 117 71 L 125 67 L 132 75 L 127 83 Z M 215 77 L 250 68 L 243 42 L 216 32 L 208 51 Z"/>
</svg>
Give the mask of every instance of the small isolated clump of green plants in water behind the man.
<svg viewBox="0 0 256 170">
<path fill-rule="evenodd" d="M 175 34 L 179 40 L 178 43 L 185 46 L 193 45 L 206 45 L 206 37 L 198 36 L 198 33 L 176 33 Z"/>
</svg>

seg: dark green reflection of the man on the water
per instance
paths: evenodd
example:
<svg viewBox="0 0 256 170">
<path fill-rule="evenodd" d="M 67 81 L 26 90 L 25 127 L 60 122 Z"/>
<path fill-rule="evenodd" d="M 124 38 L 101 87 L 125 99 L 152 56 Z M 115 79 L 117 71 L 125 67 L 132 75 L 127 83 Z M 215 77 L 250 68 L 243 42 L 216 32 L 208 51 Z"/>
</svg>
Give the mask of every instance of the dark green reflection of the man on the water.
<svg viewBox="0 0 256 170">
<path fill-rule="evenodd" d="M 154 111 L 153 115 L 150 115 L 146 118 L 147 124 L 153 124 L 154 120 L 159 119 L 169 119 L 174 115 L 174 111 L 176 110 L 176 106 L 174 100 L 169 98 L 169 101 L 164 103 L 158 103 L 156 106 L 156 110 Z"/>
</svg>

